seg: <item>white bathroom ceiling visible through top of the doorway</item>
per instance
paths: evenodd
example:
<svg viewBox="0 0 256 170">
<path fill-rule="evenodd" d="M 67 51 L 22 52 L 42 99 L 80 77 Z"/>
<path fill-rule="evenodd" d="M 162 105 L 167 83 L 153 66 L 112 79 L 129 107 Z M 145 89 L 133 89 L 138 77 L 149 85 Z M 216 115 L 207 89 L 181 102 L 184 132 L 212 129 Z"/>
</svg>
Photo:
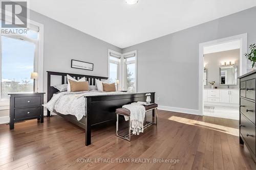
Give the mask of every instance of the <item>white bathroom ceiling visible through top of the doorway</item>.
<svg viewBox="0 0 256 170">
<path fill-rule="evenodd" d="M 229 41 L 204 47 L 204 54 L 217 53 L 240 48 L 240 40 Z"/>
</svg>

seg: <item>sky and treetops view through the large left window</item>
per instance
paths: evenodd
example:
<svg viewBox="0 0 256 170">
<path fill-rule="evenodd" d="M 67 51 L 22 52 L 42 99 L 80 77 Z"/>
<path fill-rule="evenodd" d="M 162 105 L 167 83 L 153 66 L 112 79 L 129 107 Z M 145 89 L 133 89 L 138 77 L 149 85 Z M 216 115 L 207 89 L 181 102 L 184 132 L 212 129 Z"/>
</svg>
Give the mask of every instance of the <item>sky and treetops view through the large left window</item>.
<svg viewBox="0 0 256 170">
<path fill-rule="evenodd" d="M 36 39 L 37 33 L 30 32 Z M 8 98 L 8 92 L 33 91 L 35 44 L 29 41 L 1 36 L 2 40 L 2 83 L 1 98 Z"/>
</svg>

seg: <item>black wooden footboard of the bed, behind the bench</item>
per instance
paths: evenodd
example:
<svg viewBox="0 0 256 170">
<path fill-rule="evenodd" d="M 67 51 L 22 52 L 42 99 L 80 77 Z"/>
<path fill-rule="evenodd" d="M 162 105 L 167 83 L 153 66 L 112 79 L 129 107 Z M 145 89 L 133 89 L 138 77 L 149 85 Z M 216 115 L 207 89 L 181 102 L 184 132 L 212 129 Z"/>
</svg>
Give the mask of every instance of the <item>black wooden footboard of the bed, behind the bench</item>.
<svg viewBox="0 0 256 170">
<path fill-rule="evenodd" d="M 155 92 L 151 93 L 151 103 L 155 103 Z M 86 110 L 86 145 L 91 144 L 92 126 L 116 119 L 116 109 L 133 102 L 145 102 L 146 93 L 124 93 L 100 96 L 85 96 Z M 114 132 L 113 132 L 114 133 Z"/>
</svg>

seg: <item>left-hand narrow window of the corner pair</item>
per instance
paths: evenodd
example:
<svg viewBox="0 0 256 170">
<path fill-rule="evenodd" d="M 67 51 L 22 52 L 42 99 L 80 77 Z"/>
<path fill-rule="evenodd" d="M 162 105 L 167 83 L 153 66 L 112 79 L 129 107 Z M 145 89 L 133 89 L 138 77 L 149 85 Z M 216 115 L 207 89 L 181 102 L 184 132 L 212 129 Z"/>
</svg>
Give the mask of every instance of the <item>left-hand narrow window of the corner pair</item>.
<svg viewBox="0 0 256 170">
<path fill-rule="evenodd" d="M 117 83 L 119 81 L 121 54 L 109 50 L 109 81 Z"/>
</svg>

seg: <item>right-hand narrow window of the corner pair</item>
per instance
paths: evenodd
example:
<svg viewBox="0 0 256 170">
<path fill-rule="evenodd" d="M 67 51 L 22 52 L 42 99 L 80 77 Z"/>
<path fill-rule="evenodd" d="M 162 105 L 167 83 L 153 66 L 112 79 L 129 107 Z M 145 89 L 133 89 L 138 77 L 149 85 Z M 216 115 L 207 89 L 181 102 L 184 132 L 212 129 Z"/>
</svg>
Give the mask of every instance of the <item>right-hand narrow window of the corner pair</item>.
<svg viewBox="0 0 256 170">
<path fill-rule="evenodd" d="M 137 91 L 137 52 L 130 52 L 123 54 L 124 60 L 124 90 L 130 92 Z"/>
</svg>

